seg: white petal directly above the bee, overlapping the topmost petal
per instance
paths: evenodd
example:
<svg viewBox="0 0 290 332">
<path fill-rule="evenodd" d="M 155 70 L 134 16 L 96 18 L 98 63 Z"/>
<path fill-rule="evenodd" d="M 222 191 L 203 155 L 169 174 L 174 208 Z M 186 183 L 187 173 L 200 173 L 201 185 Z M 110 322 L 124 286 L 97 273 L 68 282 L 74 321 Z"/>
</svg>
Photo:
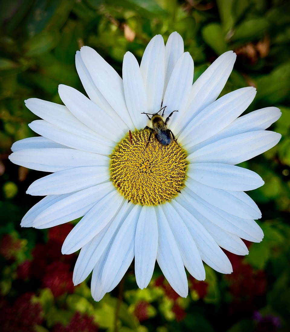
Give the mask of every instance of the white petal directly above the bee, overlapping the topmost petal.
<svg viewBox="0 0 290 332">
<path fill-rule="evenodd" d="M 162 106 L 166 106 L 167 113 L 178 110 L 180 114 L 186 107 L 193 81 L 193 60 L 188 52 L 178 59 L 163 99 Z M 178 121 L 178 115 L 174 117 Z M 171 127 L 171 126 L 170 126 Z"/>
</svg>

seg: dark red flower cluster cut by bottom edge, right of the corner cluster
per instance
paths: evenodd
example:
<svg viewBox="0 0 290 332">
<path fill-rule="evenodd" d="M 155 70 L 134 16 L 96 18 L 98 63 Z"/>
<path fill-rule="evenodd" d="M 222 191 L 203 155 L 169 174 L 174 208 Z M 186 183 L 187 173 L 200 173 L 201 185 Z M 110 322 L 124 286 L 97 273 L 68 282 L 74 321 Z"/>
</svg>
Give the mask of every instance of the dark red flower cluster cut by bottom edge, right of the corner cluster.
<svg viewBox="0 0 290 332">
<path fill-rule="evenodd" d="M 52 332 L 97 332 L 98 326 L 93 322 L 93 317 L 76 312 L 67 326 L 55 324 Z"/>
</svg>

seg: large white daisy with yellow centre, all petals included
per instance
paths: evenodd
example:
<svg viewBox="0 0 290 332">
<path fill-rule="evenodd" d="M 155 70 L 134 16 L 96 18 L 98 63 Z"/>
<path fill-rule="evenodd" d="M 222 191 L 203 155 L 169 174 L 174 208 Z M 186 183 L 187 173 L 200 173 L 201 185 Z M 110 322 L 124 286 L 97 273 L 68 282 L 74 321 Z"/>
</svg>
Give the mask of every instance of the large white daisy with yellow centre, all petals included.
<svg viewBox="0 0 290 332">
<path fill-rule="evenodd" d="M 253 87 L 217 99 L 235 59 L 232 51 L 222 54 L 192 85 L 193 60 L 174 32 L 166 46 L 155 36 L 140 66 L 127 52 L 121 79 L 84 46 L 76 68 L 89 98 L 60 85 L 64 106 L 26 100 L 43 119 L 30 124 L 41 136 L 14 143 L 10 160 L 52 174 L 28 188 L 28 194 L 46 197 L 21 225 L 47 228 L 82 217 L 62 253 L 81 249 L 73 281 L 77 285 L 93 271 L 95 300 L 118 285 L 134 257 L 141 289 L 157 260 L 185 297 L 185 268 L 198 280 L 205 279 L 203 262 L 231 273 L 221 248 L 246 255 L 241 239 L 262 240 L 254 221 L 261 212 L 244 191 L 264 182 L 234 165 L 277 144 L 281 135 L 264 129 L 280 111 L 267 107 L 240 117 L 254 99 Z M 163 118 L 154 115 L 165 106 Z M 144 129 L 151 117 L 149 127 L 156 130 Z"/>
</svg>

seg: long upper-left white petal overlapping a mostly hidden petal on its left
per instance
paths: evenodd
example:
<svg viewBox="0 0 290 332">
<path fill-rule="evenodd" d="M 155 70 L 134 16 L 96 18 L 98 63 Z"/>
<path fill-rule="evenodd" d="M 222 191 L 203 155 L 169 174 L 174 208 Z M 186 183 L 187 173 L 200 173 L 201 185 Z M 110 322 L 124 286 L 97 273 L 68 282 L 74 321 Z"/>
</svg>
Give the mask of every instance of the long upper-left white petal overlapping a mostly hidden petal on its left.
<svg viewBox="0 0 290 332">
<path fill-rule="evenodd" d="M 98 90 L 127 127 L 133 128 L 134 124 L 126 106 L 123 81 L 119 74 L 91 47 L 83 46 L 80 52 Z"/>
</svg>

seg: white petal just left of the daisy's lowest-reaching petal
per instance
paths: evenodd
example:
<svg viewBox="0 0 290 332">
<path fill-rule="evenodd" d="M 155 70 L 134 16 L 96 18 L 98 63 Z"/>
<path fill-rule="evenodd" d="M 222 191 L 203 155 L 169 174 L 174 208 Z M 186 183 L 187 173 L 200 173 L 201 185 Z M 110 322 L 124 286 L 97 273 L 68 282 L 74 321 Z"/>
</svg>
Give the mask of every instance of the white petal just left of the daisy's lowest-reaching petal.
<svg viewBox="0 0 290 332">
<path fill-rule="evenodd" d="M 116 216 L 91 241 L 81 248 L 73 270 L 72 279 L 75 285 L 80 284 L 87 278 L 101 259 L 103 253 L 111 247 L 120 225 L 132 208 L 132 204 L 128 204 L 127 201 L 124 202 Z"/>
</svg>

